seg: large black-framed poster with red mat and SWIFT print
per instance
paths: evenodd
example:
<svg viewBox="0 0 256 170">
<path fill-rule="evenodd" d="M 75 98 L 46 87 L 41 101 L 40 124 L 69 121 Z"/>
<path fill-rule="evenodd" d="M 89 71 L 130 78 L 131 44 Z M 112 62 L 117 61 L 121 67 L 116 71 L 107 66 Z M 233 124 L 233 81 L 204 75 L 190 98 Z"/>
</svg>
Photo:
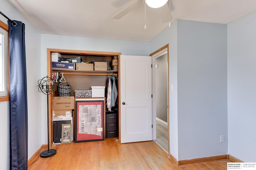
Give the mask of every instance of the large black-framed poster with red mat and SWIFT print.
<svg viewBox="0 0 256 170">
<path fill-rule="evenodd" d="M 105 98 L 75 98 L 75 142 L 104 141 Z"/>
</svg>

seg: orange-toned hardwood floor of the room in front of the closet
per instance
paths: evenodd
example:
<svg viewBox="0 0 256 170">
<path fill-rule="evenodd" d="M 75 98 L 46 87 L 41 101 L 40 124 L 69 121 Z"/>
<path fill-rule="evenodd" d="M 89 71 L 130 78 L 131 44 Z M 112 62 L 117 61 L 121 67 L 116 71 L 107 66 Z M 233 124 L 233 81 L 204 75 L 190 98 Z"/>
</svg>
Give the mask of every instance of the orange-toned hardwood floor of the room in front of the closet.
<svg viewBox="0 0 256 170">
<path fill-rule="evenodd" d="M 57 154 L 38 159 L 28 170 L 226 170 L 230 160 L 176 166 L 154 141 L 105 141 L 56 145 Z"/>
</svg>

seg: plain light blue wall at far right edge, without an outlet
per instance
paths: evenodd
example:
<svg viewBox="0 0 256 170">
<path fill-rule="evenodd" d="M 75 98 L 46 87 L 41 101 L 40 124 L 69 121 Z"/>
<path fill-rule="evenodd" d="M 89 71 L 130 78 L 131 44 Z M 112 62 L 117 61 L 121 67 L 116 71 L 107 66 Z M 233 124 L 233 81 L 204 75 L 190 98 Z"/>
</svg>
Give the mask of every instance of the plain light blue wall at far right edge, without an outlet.
<svg viewBox="0 0 256 170">
<path fill-rule="evenodd" d="M 228 152 L 256 162 L 256 12 L 228 24 Z"/>
</svg>

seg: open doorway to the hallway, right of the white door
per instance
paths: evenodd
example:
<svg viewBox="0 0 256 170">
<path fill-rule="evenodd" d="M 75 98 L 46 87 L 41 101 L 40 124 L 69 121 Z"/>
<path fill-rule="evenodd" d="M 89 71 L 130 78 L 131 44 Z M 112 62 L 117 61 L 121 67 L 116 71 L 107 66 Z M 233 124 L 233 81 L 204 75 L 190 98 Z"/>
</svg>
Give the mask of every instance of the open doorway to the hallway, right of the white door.
<svg viewBox="0 0 256 170">
<path fill-rule="evenodd" d="M 168 45 L 152 56 L 152 115 L 154 141 L 169 154 L 169 50 Z"/>
</svg>

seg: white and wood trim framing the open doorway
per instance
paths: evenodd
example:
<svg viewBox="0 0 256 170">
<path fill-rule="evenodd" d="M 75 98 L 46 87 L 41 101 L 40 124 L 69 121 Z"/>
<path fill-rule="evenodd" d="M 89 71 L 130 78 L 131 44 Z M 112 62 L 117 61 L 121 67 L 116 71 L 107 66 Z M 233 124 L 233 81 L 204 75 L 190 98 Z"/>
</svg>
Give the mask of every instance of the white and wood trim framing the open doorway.
<svg viewBox="0 0 256 170">
<path fill-rule="evenodd" d="M 167 93 L 168 93 L 168 98 L 167 98 L 167 123 L 168 123 L 168 155 L 170 155 L 170 63 L 169 63 L 169 44 L 165 45 L 164 47 L 154 51 L 153 53 L 150 54 L 152 57 L 152 65 L 155 64 L 155 59 L 164 53 L 167 52 Z M 156 87 L 155 87 L 155 72 L 156 68 L 152 67 L 152 93 L 153 93 L 153 100 L 152 100 L 152 123 L 153 123 L 153 139 L 156 140 L 156 99 L 155 99 L 155 94 L 156 94 Z"/>
</svg>

